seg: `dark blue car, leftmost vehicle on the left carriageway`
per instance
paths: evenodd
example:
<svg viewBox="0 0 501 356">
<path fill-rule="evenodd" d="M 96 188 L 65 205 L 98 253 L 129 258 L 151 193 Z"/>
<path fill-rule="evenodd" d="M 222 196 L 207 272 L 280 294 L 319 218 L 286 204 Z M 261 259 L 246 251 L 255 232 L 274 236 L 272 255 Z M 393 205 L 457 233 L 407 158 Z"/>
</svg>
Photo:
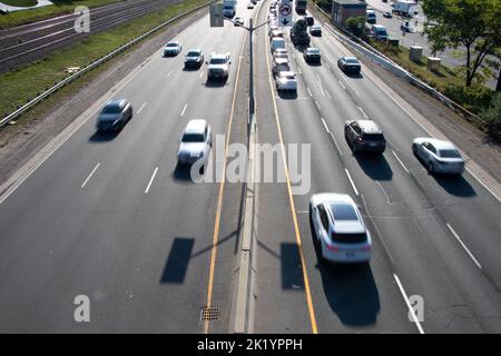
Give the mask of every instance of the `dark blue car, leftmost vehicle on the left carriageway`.
<svg viewBox="0 0 501 356">
<path fill-rule="evenodd" d="M 127 99 L 108 101 L 97 117 L 96 128 L 99 131 L 115 131 L 122 129 L 132 118 L 132 105 Z"/>
</svg>

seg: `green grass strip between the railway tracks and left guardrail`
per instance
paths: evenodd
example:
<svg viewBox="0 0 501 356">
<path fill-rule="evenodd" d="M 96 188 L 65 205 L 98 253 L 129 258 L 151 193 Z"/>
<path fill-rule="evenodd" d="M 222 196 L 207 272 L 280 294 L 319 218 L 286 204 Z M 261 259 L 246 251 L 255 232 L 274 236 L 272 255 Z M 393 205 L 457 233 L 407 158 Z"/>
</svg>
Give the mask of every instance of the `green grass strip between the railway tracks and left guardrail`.
<svg viewBox="0 0 501 356">
<path fill-rule="evenodd" d="M 0 108 L 3 111 L 0 115 L 7 116 L 68 77 L 69 73 L 66 72 L 68 67 L 86 67 L 161 22 L 206 2 L 207 0 L 187 0 L 168 6 L 110 31 L 90 36 L 29 66 L 0 75 Z M 75 82 L 80 80 L 81 78 Z"/>
</svg>

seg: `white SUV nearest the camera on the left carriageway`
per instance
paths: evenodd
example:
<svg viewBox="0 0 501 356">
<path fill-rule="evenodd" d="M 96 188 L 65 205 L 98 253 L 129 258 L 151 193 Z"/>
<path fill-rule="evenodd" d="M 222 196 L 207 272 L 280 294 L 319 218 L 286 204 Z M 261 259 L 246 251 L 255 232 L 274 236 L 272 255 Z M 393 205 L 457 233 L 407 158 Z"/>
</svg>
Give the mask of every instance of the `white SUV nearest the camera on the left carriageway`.
<svg viewBox="0 0 501 356">
<path fill-rule="evenodd" d="M 190 120 L 179 139 L 179 150 L 177 152 L 179 165 L 190 166 L 199 159 L 203 159 L 205 164 L 212 146 L 213 137 L 207 121 Z"/>
</svg>

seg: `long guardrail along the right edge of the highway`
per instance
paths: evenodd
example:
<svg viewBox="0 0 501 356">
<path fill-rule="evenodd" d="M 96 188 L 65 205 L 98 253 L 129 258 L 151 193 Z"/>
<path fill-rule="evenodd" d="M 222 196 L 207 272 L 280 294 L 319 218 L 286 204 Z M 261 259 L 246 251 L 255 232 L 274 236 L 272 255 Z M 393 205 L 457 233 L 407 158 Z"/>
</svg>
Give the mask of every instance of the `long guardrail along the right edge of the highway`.
<svg viewBox="0 0 501 356">
<path fill-rule="evenodd" d="M 325 12 L 324 10 L 322 10 L 316 3 L 313 2 L 313 6 L 318 11 L 321 11 L 323 14 L 325 14 L 327 18 L 331 18 L 330 14 L 327 12 Z M 426 91 L 429 95 L 431 95 L 435 99 L 439 99 L 448 108 L 461 113 L 465 119 L 475 121 L 481 125 L 487 125 L 487 122 L 484 120 L 482 120 L 481 118 L 479 118 L 477 115 L 470 112 L 469 110 L 466 110 L 465 108 L 460 106 L 458 102 L 453 101 L 452 99 L 448 98 L 446 96 L 444 96 L 436 89 L 430 87 L 422 80 L 418 79 L 416 77 L 414 77 L 414 75 L 412 75 L 411 72 L 409 72 L 407 70 L 405 70 L 404 68 L 402 68 L 394 61 L 392 61 L 390 58 L 387 58 L 386 56 L 384 56 L 383 53 L 377 51 L 374 47 L 372 47 L 367 42 L 361 40 L 360 38 L 353 38 L 353 36 L 351 33 L 348 33 L 347 31 L 345 31 L 344 29 L 342 29 L 342 30 L 340 29 L 342 32 L 345 33 L 345 34 L 342 34 L 338 30 L 334 29 L 332 26 L 328 26 L 328 27 L 332 29 L 334 34 L 342 42 L 347 43 L 348 46 L 351 46 L 355 50 L 362 52 L 366 57 L 370 57 L 373 60 L 377 61 L 377 63 L 380 66 L 392 71 L 396 76 L 407 80 L 414 87 L 416 87 L 423 91 Z M 352 38 L 348 38 L 348 37 L 352 37 Z"/>
</svg>

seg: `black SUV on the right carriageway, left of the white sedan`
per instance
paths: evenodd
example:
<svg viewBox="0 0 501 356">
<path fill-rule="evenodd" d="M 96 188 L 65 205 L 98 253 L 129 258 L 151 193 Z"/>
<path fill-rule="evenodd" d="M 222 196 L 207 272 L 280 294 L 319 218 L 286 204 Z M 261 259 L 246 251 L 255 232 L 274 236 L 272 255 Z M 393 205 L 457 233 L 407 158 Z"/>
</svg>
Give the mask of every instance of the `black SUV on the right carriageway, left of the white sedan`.
<svg viewBox="0 0 501 356">
<path fill-rule="evenodd" d="M 346 121 L 344 137 L 354 154 L 361 151 L 382 154 L 386 148 L 383 131 L 372 120 Z"/>
</svg>

